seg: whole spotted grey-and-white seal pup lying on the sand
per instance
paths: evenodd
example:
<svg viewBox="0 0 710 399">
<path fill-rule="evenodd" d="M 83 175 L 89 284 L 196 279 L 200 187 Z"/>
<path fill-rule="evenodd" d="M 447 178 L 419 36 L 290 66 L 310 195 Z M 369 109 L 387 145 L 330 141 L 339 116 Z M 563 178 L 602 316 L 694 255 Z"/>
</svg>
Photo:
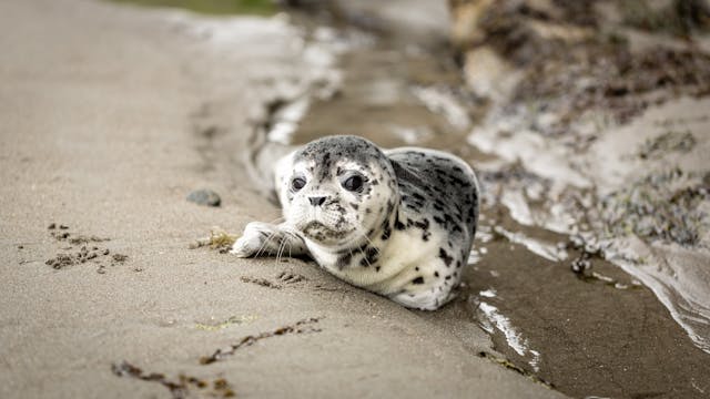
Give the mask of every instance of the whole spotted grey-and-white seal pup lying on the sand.
<svg viewBox="0 0 710 399">
<path fill-rule="evenodd" d="M 286 155 L 274 172 L 285 222 L 247 224 L 233 254 L 308 255 L 410 308 L 434 310 L 455 296 L 478 219 L 478 183 L 463 160 L 327 136 Z"/>
</svg>

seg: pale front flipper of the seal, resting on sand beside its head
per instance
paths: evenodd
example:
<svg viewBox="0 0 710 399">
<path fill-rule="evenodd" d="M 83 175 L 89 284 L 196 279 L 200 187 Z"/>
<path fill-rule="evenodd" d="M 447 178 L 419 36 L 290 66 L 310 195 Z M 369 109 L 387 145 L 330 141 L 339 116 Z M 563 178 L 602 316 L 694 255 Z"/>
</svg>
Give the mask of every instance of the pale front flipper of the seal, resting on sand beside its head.
<svg viewBox="0 0 710 399">
<path fill-rule="evenodd" d="M 252 222 L 244 228 L 244 234 L 232 246 L 231 254 L 239 257 L 257 256 L 301 256 L 307 255 L 303 239 L 283 224 L 273 225 Z"/>
</svg>

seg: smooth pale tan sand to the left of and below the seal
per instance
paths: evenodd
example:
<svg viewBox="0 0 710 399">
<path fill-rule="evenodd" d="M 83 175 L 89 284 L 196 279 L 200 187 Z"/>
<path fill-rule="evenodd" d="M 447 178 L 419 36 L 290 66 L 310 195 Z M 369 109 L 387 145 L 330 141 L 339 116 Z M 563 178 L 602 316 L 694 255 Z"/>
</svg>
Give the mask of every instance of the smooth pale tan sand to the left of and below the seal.
<svg viewBox="0 0 710 399">
<path fill-rule="evenodd" d="M 170 397 L 116 377 L 123 360 L 172 380 L 224 378 L 240 397 L 559 396 L 478 357 L 489 340 L 452 321 L 467 319 L 459 307 L 410 311 L 298 260 L 187 249 L 213 225 L 277 217 L 243 170 L 213 166 L 226 164 L 214 149 L 246 145 L 263 82 L 298 73 L 282 22 L 240 21 L 244 44 L 217 52 L 160 11 L 0 2 L 0 397 Z M 185 201 L 203 186 L 222 207 Z M 84 245 L 95 258 L 45 265 Z M 281 289 L 250 283 L 258 279 Z M 199 362 L 310 318 L 318 321 Z"/>
</svg>

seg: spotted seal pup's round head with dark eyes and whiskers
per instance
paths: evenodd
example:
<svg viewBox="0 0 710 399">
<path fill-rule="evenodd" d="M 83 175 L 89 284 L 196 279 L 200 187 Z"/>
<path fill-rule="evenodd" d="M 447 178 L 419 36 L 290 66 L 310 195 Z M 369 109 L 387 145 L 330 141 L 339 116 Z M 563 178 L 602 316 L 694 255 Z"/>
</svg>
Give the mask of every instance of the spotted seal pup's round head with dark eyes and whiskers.
<svg viewBox="0 0 710 399">
<path fill-rule="evenodd" d="M 311 142 L 292 158 L 280 182 L 284 216 L 303 236 L 338 252 L 359 247 L 388 228 L 398 203 L 392 163 L 372 142 L 328 136 Z"/>
</svg>

